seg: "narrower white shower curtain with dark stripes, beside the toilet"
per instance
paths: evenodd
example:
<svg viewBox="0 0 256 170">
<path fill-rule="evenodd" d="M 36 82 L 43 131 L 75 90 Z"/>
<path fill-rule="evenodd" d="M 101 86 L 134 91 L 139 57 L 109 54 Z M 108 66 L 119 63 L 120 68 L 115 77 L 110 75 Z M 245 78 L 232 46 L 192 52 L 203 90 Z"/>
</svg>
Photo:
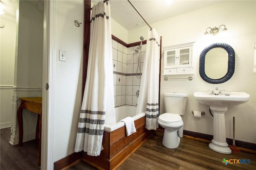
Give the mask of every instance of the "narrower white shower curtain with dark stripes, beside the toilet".
<svg viewBox="0 0 256 170">
<path fill-rule="evenodd" d="M 146 112 L 146 128 L 148 130 L 156 130 L 158 128 L 159 59 L 160 37 L 153 28 L 148 30 L 147 47 L 136 111 L 136 114 Z"/>
</svg>

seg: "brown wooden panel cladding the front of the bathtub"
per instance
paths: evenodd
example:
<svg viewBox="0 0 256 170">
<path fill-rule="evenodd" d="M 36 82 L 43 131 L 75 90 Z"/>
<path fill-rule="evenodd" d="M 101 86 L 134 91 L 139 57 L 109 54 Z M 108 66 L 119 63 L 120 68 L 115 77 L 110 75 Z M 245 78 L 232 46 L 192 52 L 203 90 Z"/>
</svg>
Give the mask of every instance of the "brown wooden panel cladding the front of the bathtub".
<svg viewBox="0 0 256 170">
<path fill-rule="evenodd" d="M 83 153 L 82 160 L 98 169 L 113 170 L 118 168 L 148 138 L 150 131 L 145 128 L 145 117 L 134 121 L 136 133 L 126 136 L 125 126 L 112 132 L 104 130 L 100 156 L 89 156 Z"/>
</svg>

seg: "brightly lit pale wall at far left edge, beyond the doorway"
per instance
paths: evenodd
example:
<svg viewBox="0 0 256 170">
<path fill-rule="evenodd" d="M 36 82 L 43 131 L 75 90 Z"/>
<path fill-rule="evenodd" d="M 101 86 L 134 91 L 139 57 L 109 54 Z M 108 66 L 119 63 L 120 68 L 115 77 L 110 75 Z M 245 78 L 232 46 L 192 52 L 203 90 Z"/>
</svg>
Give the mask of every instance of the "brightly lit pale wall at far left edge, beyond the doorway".
<svg viewBox="0 0 256 170">
<path fill-rule="evenodd" d="M 6 128 L 12 122 L 16 19 L 3 14 L 1 24 L 4 28 L 0 28 L 0 128 Z"/>
</svg>

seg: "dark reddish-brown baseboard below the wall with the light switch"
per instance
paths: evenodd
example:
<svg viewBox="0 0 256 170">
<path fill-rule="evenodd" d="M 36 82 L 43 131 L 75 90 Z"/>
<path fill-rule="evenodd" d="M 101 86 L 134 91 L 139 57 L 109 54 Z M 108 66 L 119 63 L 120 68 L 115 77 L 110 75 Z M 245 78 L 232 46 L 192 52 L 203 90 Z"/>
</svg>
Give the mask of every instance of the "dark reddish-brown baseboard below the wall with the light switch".
<svg viewBox="0 0 256 170">
<path fill-rule="evenodd" d="M 74 152 L 56 162 L 54 162 L 54 170 L 65 170 L 69 168 L 71 165 L 79 162 L 82 159 L 83 151 Z"/>
</svg>

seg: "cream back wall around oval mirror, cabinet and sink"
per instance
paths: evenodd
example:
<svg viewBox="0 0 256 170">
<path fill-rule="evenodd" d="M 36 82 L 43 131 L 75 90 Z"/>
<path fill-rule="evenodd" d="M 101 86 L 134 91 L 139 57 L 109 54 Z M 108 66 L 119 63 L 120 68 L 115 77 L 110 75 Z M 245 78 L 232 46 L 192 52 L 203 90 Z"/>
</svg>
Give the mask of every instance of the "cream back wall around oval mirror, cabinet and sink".
<svg viewBox="0 0 256 170">
<path fill-rule="evenodd" d="M 188 93 L 186 115 L 182 116 L 184 129 L 205 134 L 213 134 L 213 118 L 209 107 L 194 100 L 193 93 L 225 89 L 250 94 L 248 103 L 228 107 L 225 113 L 227 138 L 232 138 L 232 117 L 236 117 L 236 140 L 256 143 L 256 74 L 253 69 L 253 45 L 256 41 L 256 2 L 224 1 L 187 14 L 176 16 L 151 24 L 162 36 L 162 47 L 180 43 L 195 42 L 192 52 L 194 66 L 193 80 L 168 80 L 161 76 L 160 113 L 164 113 L 163 93 Z M 208 27 L 225 24 L 227 32 L 216 36 L 204 36 Z M 167 31 L 168 30 L 168 31 Z M 148 27 L 129 31 L 129 42 L 135 42 L 141 35 L 147 35 Z M 211 43 L 223 42 L 231 45 L 236 53 L 236 65 L 233 77 L 225 83 L 210 84 L 203 81 L 198 73 L 199 55 Z M 162 66 L 163 66 L 162 54 Z M 163 69 L 162 69 L 163 71 Z M 171 77 L 171 76 L 168 76 Z M 188 76 L 186 76 L 188 77 Z M 206 112 L 201 119 L 193 117 L 191 111 Z"/>
</svg>

